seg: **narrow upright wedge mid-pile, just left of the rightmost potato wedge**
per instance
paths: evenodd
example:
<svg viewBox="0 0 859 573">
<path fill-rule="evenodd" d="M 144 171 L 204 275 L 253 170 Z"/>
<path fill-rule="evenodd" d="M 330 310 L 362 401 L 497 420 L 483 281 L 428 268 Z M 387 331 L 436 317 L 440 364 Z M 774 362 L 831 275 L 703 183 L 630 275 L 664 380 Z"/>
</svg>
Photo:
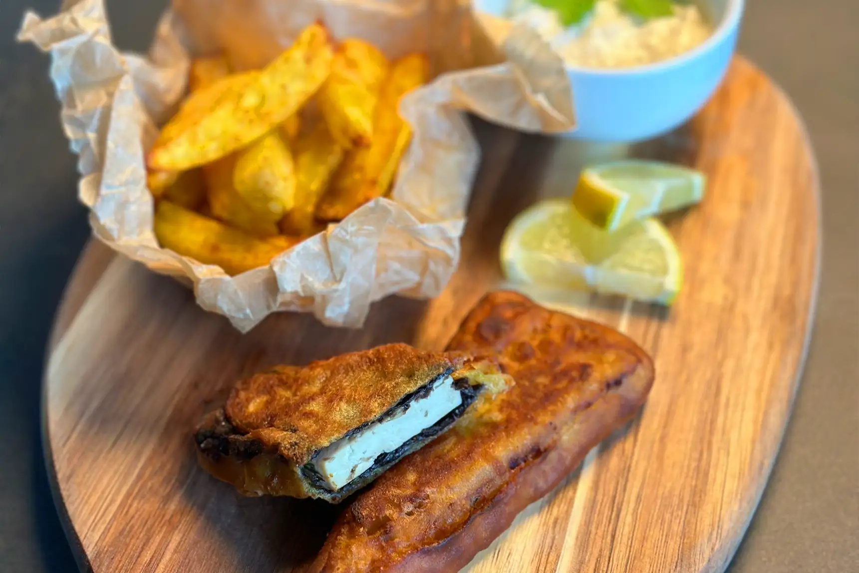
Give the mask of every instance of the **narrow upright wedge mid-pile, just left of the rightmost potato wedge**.
<svg viewBox="0 0 859 573">
<path fill-rule="evenodd" d="M 299 138 L 295 144 L 295 206 L 283 217 L 280 229 L 284 233 L 310 236 L 324 229 L 315 221 L 314 211 L 343 156 L 343 146 L 334 141 L 325 122 Z"/>
</svg>

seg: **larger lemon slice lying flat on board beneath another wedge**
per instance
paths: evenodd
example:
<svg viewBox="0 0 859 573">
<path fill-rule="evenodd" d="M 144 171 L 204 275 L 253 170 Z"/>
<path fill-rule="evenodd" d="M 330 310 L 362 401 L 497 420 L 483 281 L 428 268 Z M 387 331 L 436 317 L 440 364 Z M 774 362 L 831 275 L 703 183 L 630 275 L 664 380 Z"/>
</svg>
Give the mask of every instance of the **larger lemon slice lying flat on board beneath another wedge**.
<svg viewBox="0 0 859 573">
<path fill-rule="evenodd" d="M 670 305 L 683 284 L 683 264 L 656 219 L 609 233 L 570 201 L 549 199 L 510 222 L 501 244 L 504 274 L 514 283 L 591 290 Z"/>
</svg>

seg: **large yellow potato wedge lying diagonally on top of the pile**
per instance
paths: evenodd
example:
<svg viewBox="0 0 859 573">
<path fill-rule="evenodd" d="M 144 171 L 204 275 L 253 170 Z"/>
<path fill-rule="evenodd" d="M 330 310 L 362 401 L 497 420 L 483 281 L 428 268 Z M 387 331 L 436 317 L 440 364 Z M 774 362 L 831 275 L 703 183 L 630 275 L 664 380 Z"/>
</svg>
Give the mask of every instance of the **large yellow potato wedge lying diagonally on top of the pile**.
<svg viewBox="0 0 859 573">
<path fill-rule="evenodd" d="M 197 167 L 262 137 L 316 93 L 332 58 L 326 28 L 313 24 L 265 70 L 228 76 L 193 92 L 149 151 L 149 168 Z"/>
</svg>

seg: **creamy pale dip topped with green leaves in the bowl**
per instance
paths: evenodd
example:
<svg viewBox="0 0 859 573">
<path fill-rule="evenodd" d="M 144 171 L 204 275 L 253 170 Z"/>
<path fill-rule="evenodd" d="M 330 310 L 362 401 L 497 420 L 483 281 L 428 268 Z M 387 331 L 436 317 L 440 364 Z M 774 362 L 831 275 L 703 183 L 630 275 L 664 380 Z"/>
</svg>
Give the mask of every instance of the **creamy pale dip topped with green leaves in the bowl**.
<svg viewBox="0 0 859 573">
<path fill-rule="evenodd" d="M 508 16 L 533 27 L 567 64 L 584 68 L 628 68 L 673 58 L 713 31 L 694 4 L 674 4 L 673 15 L 641 21 L 618 0 L 598 0 L 591 14 L 570 28 L 554 10 L 528 0 L 511 0 Z"/>
</svg>

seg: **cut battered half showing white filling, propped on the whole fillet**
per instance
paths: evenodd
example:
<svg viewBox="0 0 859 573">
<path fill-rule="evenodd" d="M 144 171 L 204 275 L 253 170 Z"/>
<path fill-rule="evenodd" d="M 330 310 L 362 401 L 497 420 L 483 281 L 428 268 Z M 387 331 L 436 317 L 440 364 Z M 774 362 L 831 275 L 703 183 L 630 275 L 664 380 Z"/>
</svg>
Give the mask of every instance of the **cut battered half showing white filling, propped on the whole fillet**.
<svg viewBox="0 0 859 573">
<path fill-rule="evenodd" d="M 508 380 L 491 359 L 407 344 L 278 366 L 239 382 L 204 418 L 198 460 L 247 496 L 338 503 Z"/>
</svg>

